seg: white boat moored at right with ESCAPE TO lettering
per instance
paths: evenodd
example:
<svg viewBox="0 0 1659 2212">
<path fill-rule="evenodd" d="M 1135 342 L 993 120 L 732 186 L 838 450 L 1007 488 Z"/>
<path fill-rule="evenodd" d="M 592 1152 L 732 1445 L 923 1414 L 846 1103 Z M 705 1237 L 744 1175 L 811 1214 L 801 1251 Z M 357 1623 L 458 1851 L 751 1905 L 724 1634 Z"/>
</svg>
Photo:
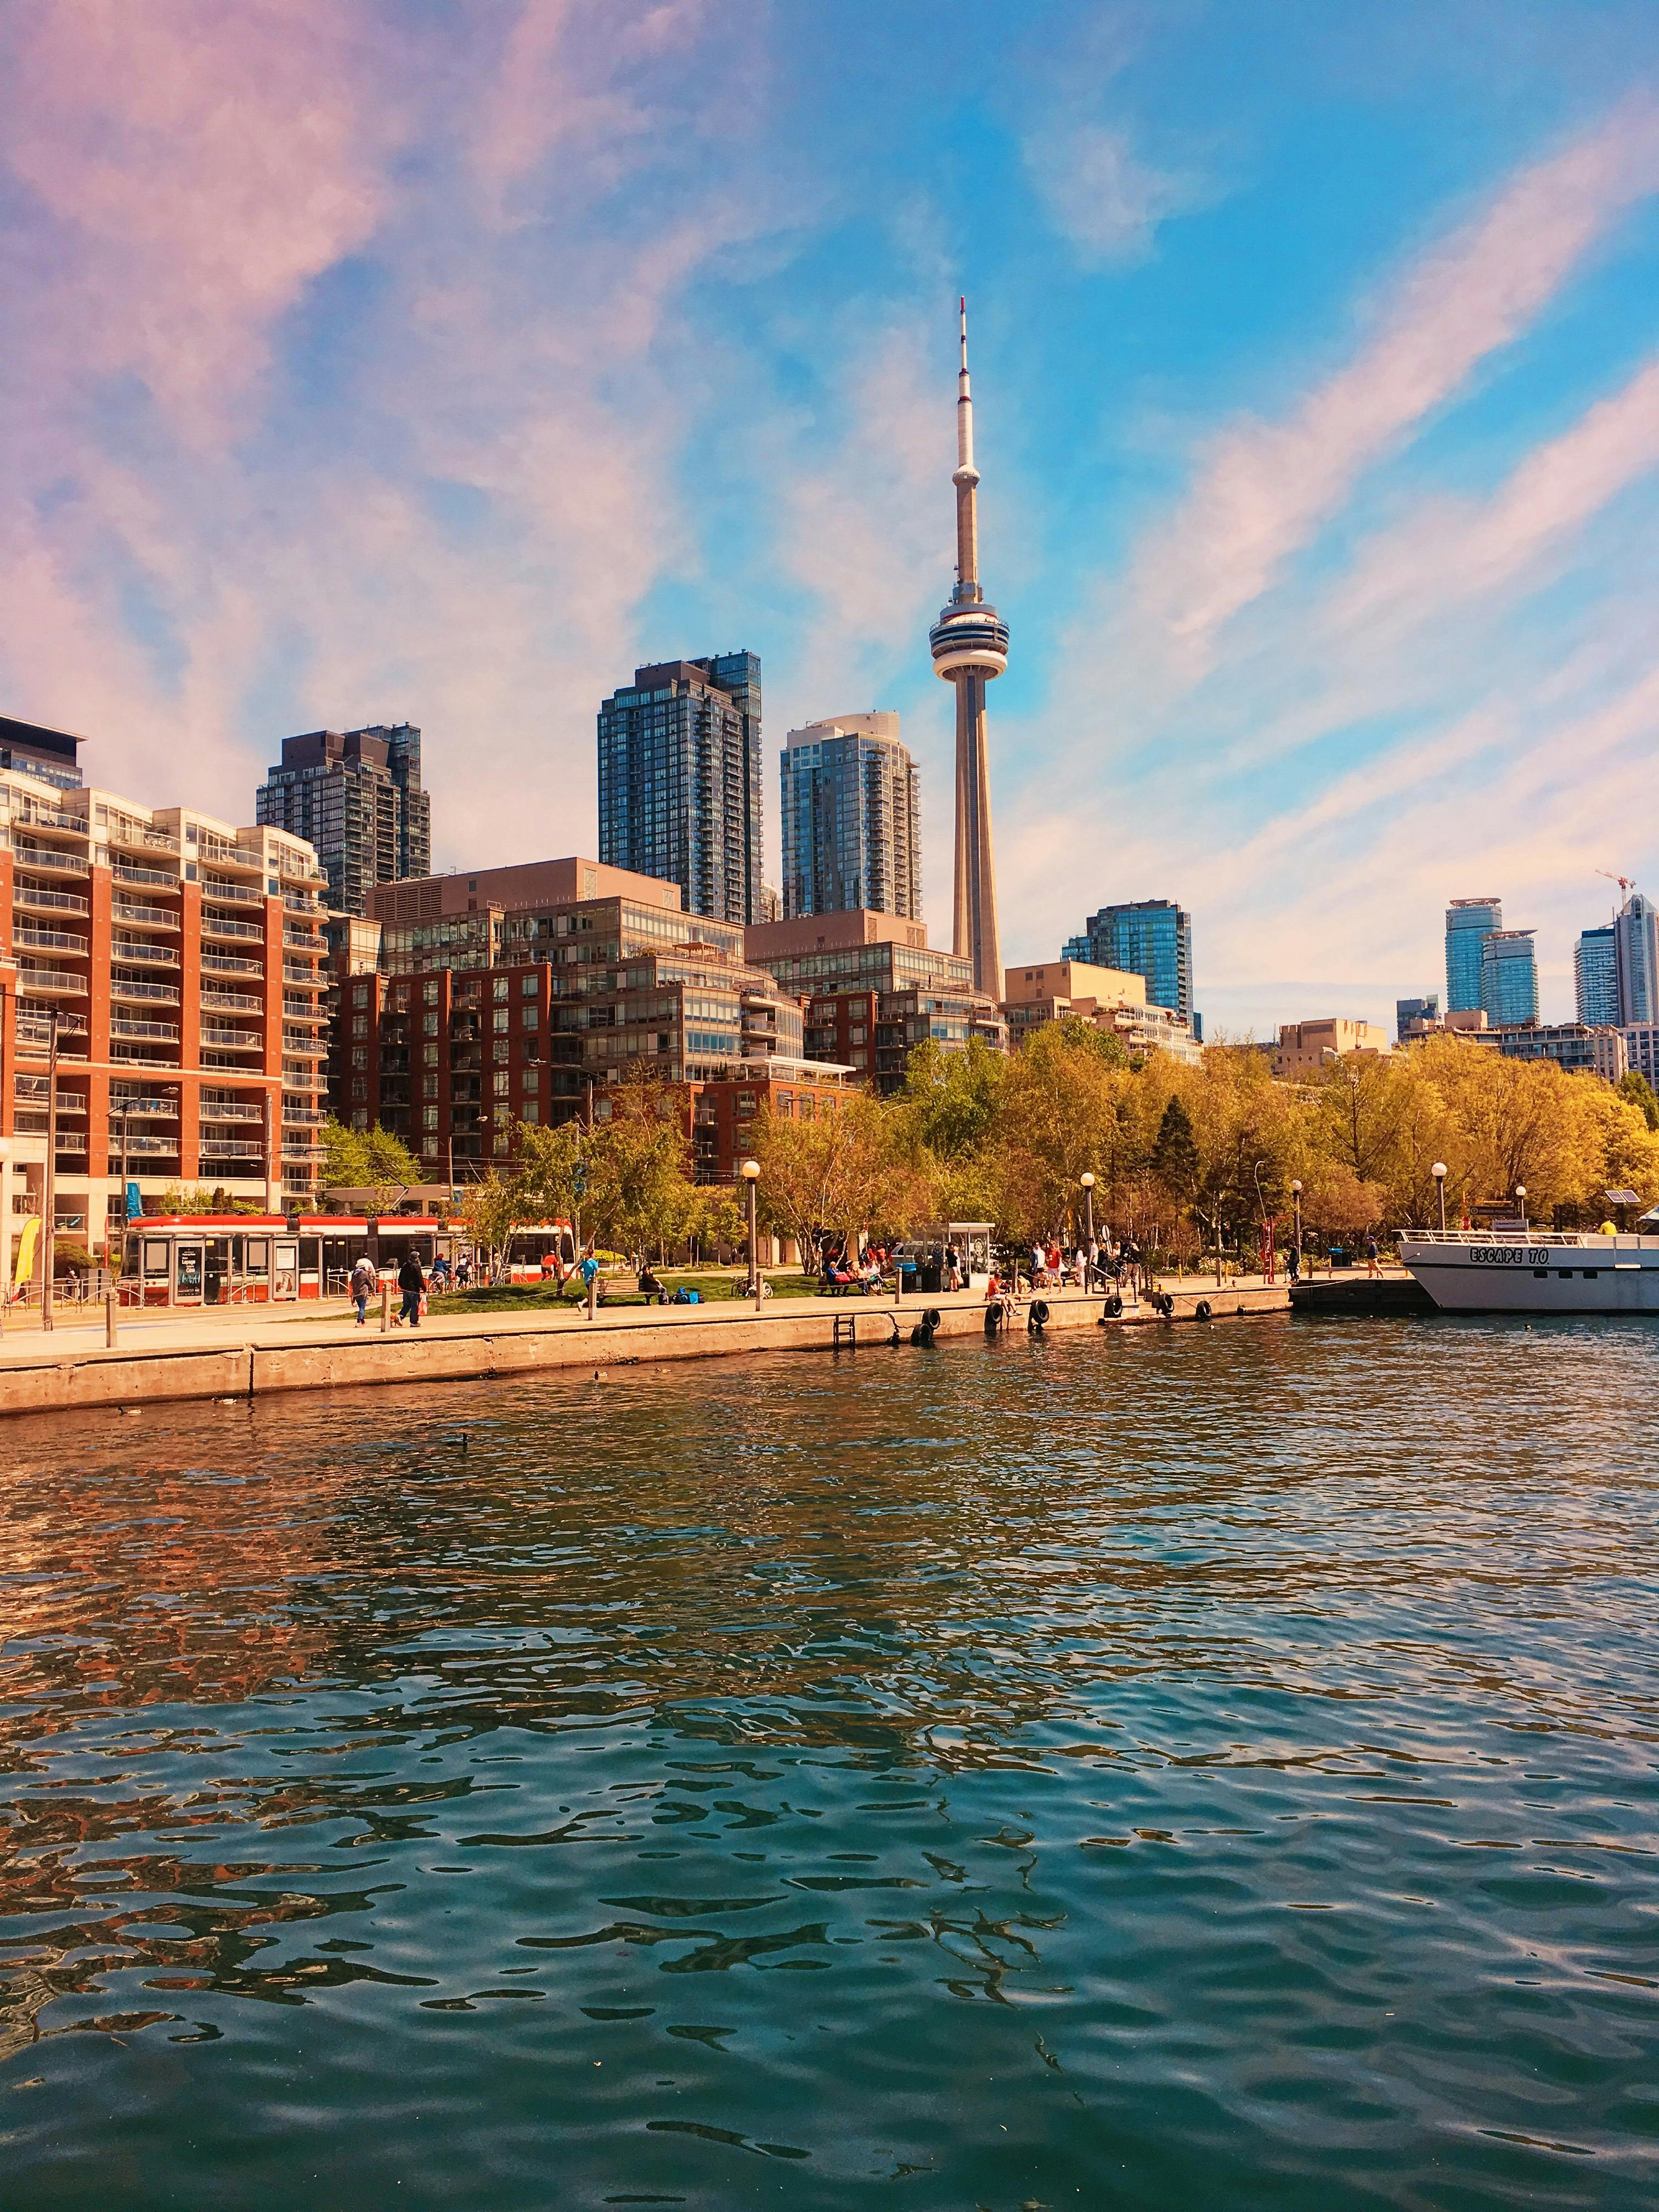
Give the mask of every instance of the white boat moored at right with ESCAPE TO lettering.
<svg viewBox="0 0 1659 2212">
<path fill-rule="evenodd" d="M 1659 1237 L 1402 1230 L 1400 1259 L 1449 1314 L 1659 1314 Z"/>
</svg>

